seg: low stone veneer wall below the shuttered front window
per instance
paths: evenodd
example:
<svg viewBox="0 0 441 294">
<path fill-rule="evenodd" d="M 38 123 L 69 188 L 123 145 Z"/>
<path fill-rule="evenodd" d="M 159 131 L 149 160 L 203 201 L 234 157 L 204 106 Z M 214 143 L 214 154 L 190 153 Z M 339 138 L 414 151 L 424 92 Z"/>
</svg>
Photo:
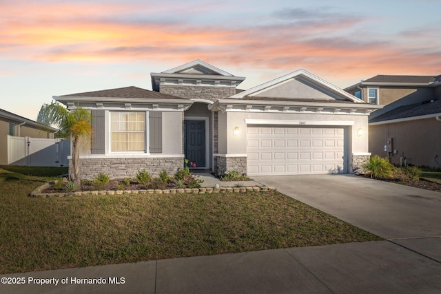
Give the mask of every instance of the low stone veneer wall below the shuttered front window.
<svg viewBox="0 0 441 294">
<path fill-rule="evenodd" d="M 110 178 L 133 178 L 141 169 L 145 169 L 152 176 L 157 177 L 164 169 L 174 175 L 178 168 L 182 168 L 184 159 L 177 158 L 81 158 L 81 179 L 93 180 L 99 173 Z M 72 168 L 72 159 L 69 160 L 69 169 Z"/>
</svg>

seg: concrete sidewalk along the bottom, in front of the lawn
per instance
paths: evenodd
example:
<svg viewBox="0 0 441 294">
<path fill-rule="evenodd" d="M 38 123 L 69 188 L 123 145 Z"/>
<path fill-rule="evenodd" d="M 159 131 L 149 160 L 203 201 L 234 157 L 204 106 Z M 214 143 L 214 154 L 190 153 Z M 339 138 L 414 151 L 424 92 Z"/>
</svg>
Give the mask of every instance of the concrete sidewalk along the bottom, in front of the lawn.
<svg viewBox="0 0 441 294">
<path fill-rule="evenodd" d="M 360 242 L 1 275 L 25 284 L 1 284 L 0 293 L 441 293 L 440 261 Z M 93 278 L 105 284 L 81 280 Z"/>
</svg>

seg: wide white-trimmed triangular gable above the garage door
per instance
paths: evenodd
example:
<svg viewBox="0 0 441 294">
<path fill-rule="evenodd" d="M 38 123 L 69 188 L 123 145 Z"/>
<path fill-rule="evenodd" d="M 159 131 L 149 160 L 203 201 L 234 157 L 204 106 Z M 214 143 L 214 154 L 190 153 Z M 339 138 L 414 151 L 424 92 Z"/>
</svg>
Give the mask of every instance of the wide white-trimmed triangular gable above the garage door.
<svg viewBox="0 0 441 294">
<path fill-rule="evenodd" d="M 317 102 L 363 103 L 360 99 L 327 83 L 305 70 L 291 72 L 273 81 L 263 83 L 230 98 L 272 98 L 287 100 L 312 100 Z"/>
</svg>

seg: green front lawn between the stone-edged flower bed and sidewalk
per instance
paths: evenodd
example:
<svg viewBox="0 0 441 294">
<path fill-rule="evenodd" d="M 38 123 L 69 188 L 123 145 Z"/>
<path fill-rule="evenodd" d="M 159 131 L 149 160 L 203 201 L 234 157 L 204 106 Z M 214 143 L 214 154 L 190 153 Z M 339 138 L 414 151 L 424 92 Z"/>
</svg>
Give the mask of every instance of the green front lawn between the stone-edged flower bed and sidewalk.
<svg viewBox="0 0 441 294">
<path fill-rule="evenodd" d="M 278 192 L 28 197 L 63 173 L 0 167 L 0 273 L 381 240 Z"/>
</svg>

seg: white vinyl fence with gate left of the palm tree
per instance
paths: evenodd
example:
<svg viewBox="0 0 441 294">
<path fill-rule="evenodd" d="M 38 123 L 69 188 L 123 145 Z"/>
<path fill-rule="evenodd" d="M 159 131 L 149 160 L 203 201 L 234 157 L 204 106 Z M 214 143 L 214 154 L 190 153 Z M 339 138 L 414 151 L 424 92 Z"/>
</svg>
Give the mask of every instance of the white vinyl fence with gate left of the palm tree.
<svg viewBox="0 0 441 294">
<path fill-rule="evenodd" d="M 8 165 L 68 167 L 70 140 L 8 136 Z"/>
</svg>

